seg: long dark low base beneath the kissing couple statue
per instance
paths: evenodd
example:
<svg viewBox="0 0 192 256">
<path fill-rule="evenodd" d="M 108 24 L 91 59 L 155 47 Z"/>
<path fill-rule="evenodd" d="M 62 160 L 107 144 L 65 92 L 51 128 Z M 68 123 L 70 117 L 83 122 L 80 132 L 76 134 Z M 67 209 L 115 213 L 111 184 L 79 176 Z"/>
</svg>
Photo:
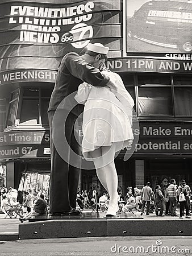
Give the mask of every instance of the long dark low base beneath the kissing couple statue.
<svg viewBox="0 0 192 256">
<path fill-rule="evenodd" d="M 31 219 L 19 225 L 19 239 L 192 235 L 192 221 L 188 220 L 141 220 L 131 213 L 123 213 L 119 218 L 103 218 L 101 214 L 91 216 Z"/>
</svg>

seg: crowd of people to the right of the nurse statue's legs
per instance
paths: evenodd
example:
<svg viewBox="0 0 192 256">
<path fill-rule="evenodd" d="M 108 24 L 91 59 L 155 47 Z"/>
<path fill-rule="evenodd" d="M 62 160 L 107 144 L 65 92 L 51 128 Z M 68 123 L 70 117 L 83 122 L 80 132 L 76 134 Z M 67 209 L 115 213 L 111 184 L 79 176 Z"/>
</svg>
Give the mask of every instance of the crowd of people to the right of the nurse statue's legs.
<svg viewBox="0 0 192 256">
<path fill-rule="evenodd" d="M 121 199 L 120 199 L 121 198 Z M 185 180 L 181 180 L 180 185 L 176 184 L 175 179 L 167 181 L 163 187 L 156 185 L 154 191 L 151 188 L 151 183 L 142 188 L 128 187 L 127 195 L 122 197 L 122 193 L 119 195 L 119 204 L 123 202 L 122 211 L 129 212 L 131 209 L 136 208 L 143 215 L 153 213 L 155 210 L 156 216 L 178 216 L 176 213 L 177 208 L 180 209 L 180 218 L 183 218 L 184 214 L 186 218 L 191 218 L 192 212 L 192 200 L 191 189 L 186 184 Z"/>
</svg>

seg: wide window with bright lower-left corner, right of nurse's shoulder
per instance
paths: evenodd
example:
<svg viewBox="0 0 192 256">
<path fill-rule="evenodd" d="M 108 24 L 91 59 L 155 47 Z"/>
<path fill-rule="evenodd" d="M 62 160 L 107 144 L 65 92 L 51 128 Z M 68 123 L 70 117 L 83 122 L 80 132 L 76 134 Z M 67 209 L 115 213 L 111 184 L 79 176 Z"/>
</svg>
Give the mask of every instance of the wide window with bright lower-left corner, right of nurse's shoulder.
<svg viewBox="0 0 192 256">
<path fill-rule="evenodd" d="M 170 87 L 139 87 L 139 115 L 173 115 Z"/>
</svg>

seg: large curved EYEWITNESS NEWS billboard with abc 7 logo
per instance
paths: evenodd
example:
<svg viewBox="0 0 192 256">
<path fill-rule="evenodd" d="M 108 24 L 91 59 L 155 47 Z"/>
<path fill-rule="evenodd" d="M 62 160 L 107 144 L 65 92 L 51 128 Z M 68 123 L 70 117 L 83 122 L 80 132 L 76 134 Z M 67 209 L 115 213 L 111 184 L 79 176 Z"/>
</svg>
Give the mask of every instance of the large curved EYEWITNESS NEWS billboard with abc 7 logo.
<svg viewBox="0 0 192 256">
<path fill-rule="evenodd" d="M 0 68 L 58 68 L 88 43 L 120 49 L 120 0 L 0 1 Z"/>
</svg>

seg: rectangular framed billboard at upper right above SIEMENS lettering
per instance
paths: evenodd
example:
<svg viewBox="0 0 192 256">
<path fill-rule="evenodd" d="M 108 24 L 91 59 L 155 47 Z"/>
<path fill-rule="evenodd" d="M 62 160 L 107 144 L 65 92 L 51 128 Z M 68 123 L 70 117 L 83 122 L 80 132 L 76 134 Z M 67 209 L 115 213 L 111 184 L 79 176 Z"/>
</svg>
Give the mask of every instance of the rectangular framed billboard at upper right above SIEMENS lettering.
<svg viewBox="0 0 192 256">
<path fill-rule="evenodd" d="M 192 52 L 192 1 L 126 3 L 127 53 Z"/>
</svg>

